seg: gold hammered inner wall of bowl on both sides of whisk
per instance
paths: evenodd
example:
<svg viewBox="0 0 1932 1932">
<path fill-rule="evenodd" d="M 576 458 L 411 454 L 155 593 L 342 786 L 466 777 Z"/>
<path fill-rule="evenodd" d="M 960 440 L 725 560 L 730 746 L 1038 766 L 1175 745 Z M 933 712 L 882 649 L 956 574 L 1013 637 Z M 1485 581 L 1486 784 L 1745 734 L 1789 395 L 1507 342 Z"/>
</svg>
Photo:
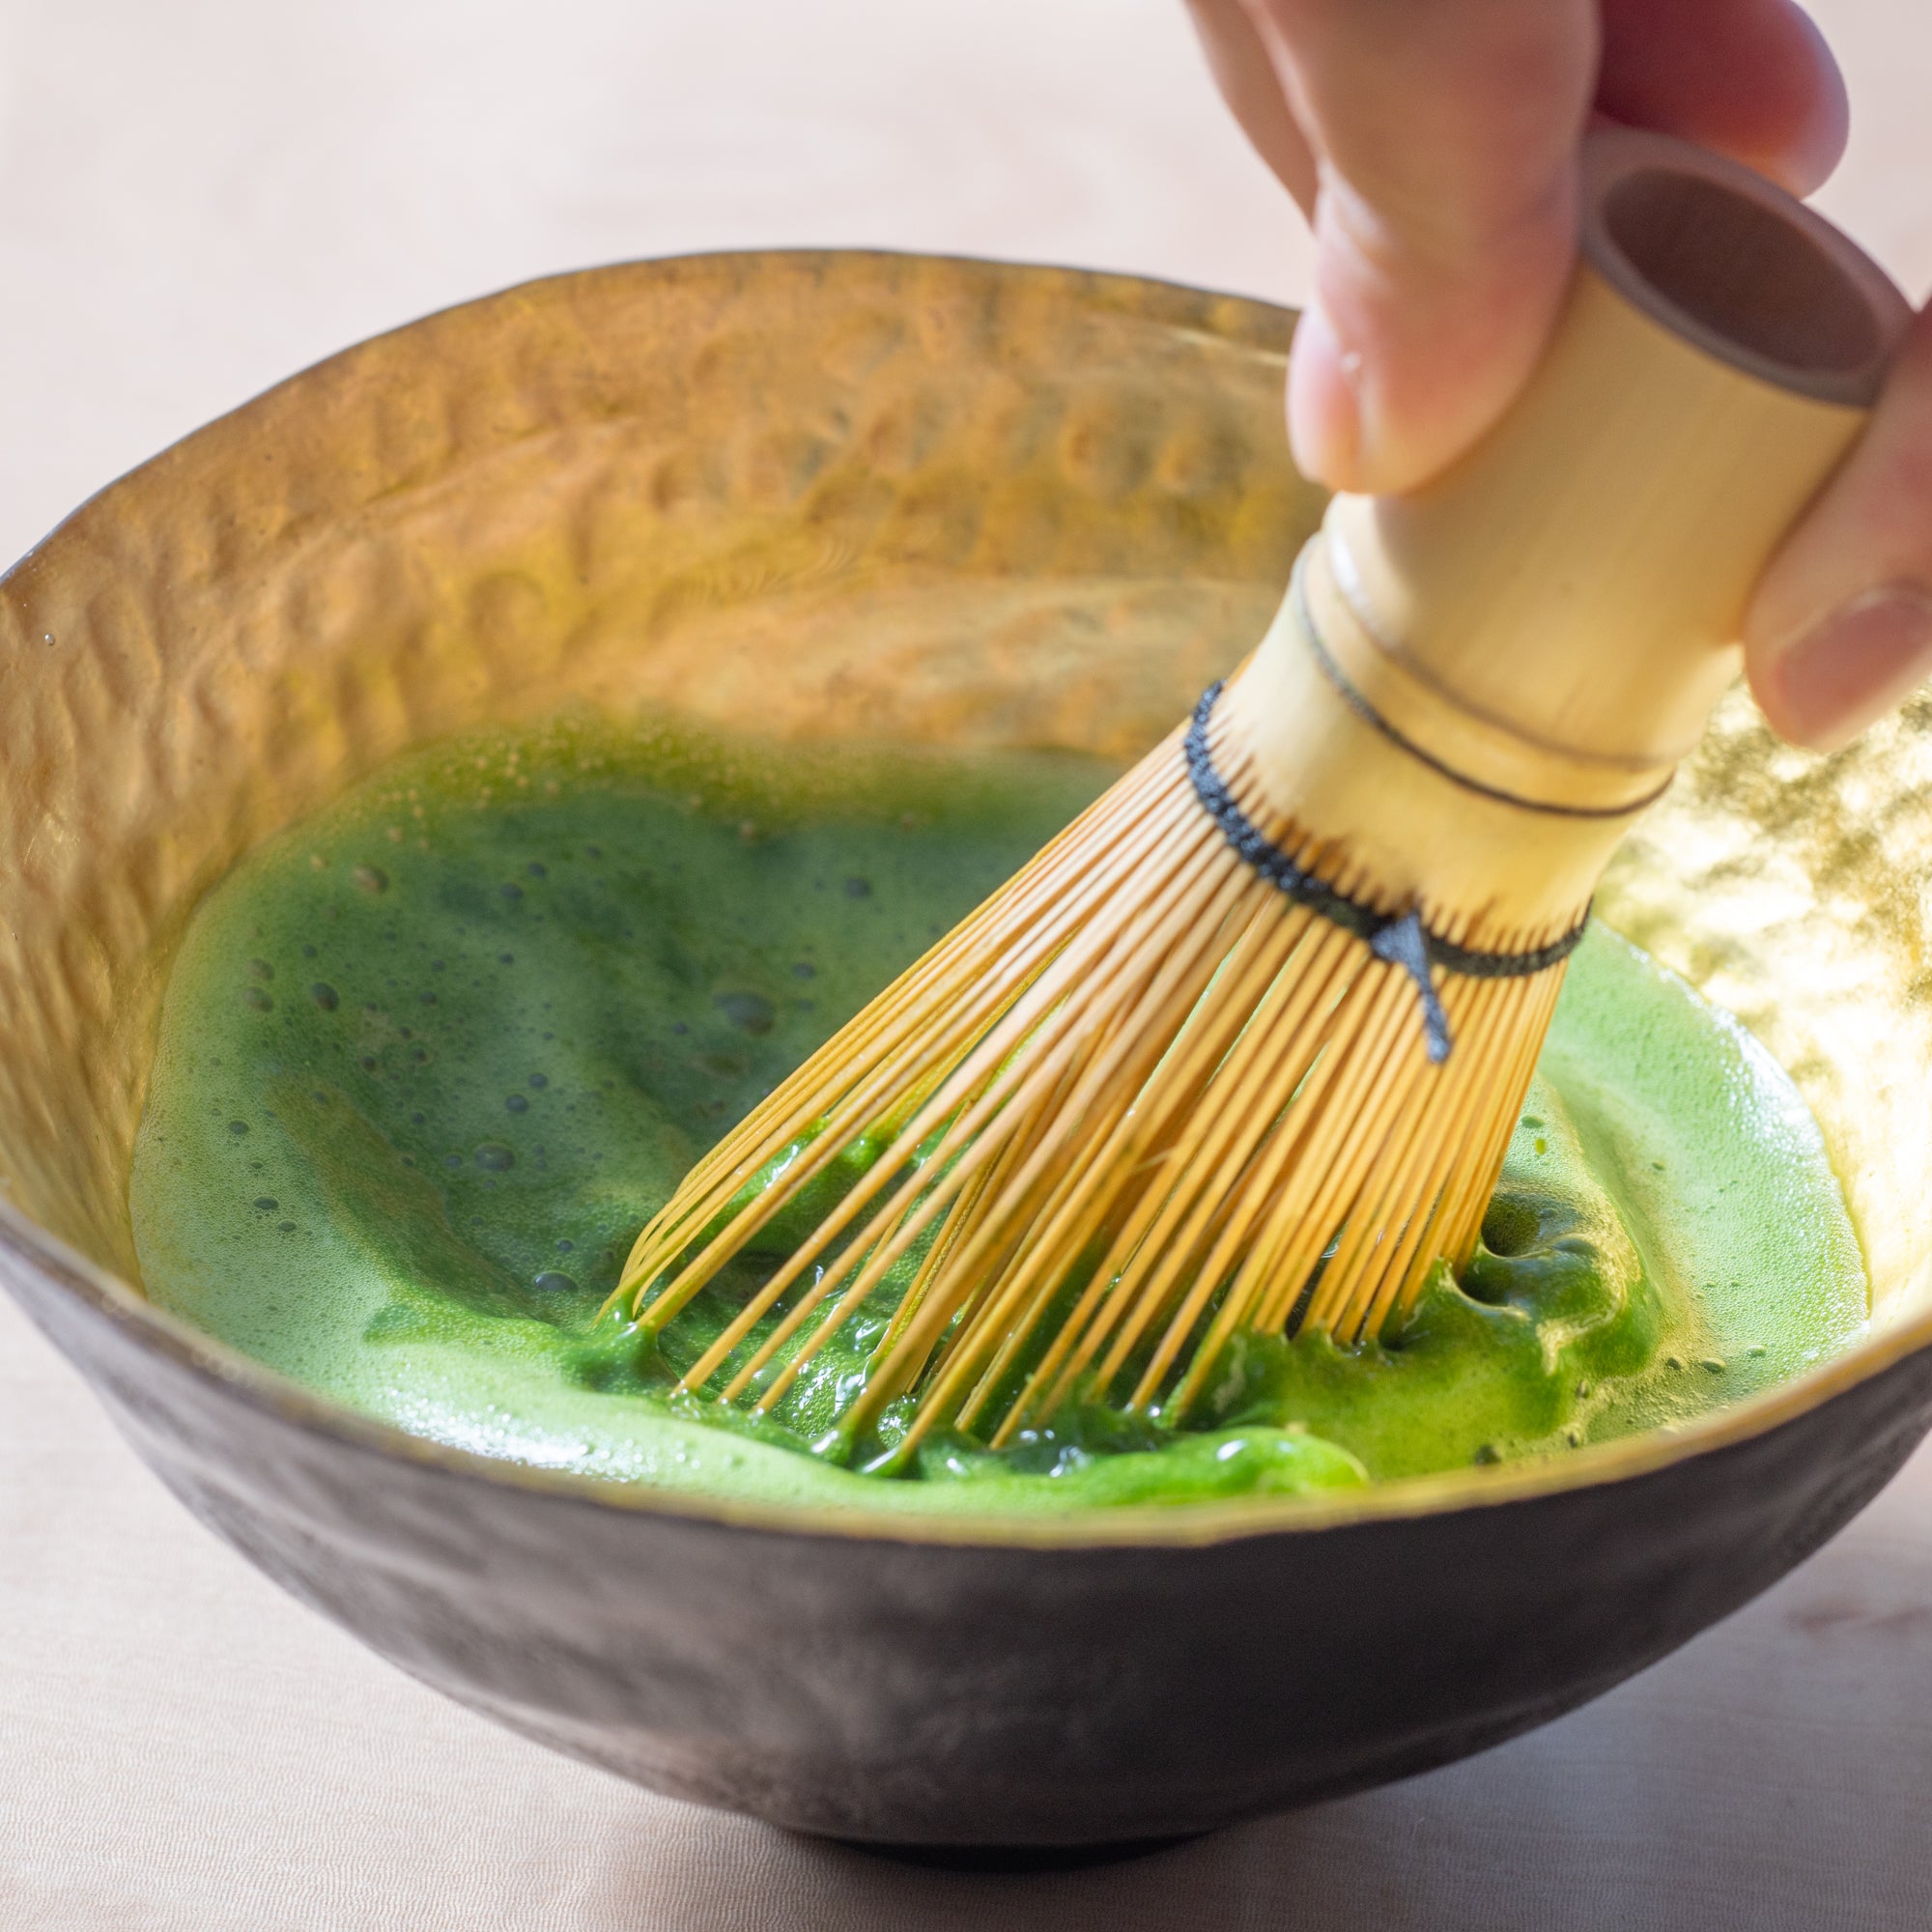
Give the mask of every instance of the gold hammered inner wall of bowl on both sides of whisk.
<svg viewBox="0 0 1932 1932">
<path fill-rule="evenodd" d="M 0 599 L 4 1231 L 170 1327 L 126 1196 L 184 922 L 412 746 L 576 705 L 1142 752 L 1262 636 L 1320 516 L 1281 433 L 1291 327 L 922 257 L 603 269 L 350 350 L 106 489 Z M 1804 1092 L 1872 1335 L 1667 1441 L 1349 1509 L 1690 1455 L 1932 1339 L 1932 707 L 1818 759 L 1735 694 L 1598 910 Z"/>
</svg>

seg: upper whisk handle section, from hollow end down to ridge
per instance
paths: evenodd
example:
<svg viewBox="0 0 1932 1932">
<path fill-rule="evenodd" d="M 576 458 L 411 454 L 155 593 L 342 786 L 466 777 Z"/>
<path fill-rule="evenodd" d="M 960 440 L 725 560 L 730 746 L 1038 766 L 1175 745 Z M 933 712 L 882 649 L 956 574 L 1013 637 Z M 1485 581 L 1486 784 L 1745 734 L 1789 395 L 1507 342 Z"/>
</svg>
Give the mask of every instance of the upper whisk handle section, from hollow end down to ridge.
<svg viewBox="0 0 1932 1932">
<path fill-rule="evenodd" d="M 1476 738 L 1611 790 L 1625 773 L 1634 798 L 1737 674 L 1750 589 L 1909 321 L 1857 243 L 1748 168 L 1596 131 L 1577 272 L 1522 396 L 1422 489 L 1337 497 L 1327 572 L 1391 674 Z"/>
</svg>

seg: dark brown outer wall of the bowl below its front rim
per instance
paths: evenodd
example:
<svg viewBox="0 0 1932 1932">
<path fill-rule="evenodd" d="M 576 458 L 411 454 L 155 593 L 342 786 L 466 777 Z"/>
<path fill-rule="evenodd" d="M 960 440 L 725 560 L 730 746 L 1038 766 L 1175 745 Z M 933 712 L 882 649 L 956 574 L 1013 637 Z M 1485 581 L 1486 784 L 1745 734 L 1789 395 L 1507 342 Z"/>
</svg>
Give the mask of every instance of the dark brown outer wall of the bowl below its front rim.
<svg viewBox="0 0 1932 1932">
<path fill-rule="evenodd" d="M 1482 1750 L 1737 1609 L 1932 1424 L 1918 1350 L 1615 1482 L 1204 1546 L 916 1542 L 398 1455 L 8 1285 L 162 1482 L 301 1602 L 539 1743 L 875 1845 L 1122 1845 Z"/>
</svg>

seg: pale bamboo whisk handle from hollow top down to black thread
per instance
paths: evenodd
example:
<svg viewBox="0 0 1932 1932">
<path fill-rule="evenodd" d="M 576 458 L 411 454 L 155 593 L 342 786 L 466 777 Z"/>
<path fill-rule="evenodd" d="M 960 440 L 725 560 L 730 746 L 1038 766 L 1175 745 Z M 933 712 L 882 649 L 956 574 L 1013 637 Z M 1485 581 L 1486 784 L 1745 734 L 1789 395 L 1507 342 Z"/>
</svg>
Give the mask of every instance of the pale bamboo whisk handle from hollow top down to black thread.
<svg viewBox="0 0 1932 1932">
<path fill-rule="evenodd" d="M 1335 498 L 1231 694 L 1262 800 L 1476 943 L 1575 920 L 1911 315 L 1830 222 L 1683 141 L 1594 133 L 1580 185 L 1524 394 L 1422 489 Z"/>
</svg>

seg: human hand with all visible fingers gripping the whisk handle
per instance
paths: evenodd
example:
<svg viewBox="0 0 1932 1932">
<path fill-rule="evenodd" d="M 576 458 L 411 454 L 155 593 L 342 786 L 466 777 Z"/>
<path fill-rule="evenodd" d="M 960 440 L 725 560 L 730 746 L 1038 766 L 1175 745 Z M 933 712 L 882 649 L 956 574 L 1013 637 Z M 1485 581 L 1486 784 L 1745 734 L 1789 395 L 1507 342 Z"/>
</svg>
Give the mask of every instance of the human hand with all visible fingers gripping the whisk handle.
<svg viewBox="0 0 1932 1932">
<path fill-rule="evenodd" d="M 1534 367 L 1575 257 L 1592 114 L 1808 193 L 1845 89 L 1793 0 L 1188 0 L 1209 66 L 1316 234 L 1289 365 L 1300 468 L 1401 491 Z M 1932 321 L 1752 599 L 1772 724 L 1830 750 L 1932 672 Z"/>
</svg>

